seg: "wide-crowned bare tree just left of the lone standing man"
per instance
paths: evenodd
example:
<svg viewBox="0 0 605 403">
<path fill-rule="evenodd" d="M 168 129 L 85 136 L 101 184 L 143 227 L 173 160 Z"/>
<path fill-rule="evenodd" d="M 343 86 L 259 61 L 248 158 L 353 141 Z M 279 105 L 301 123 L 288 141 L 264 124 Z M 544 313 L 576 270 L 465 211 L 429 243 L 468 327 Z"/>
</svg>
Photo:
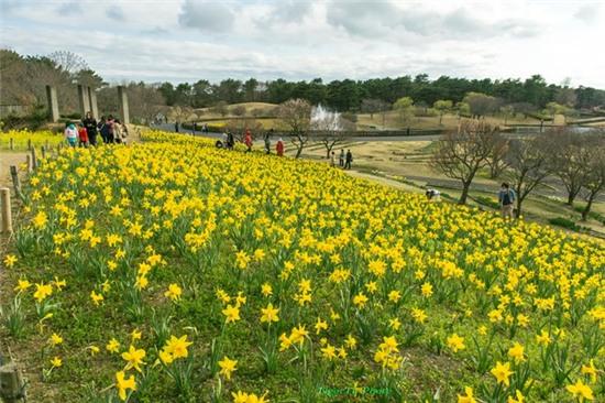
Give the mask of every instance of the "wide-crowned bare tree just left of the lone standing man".
<svg viewBox="0 0 605 403">
<path fill-rule="evenodd" d="M 479 170 L 487 164 L 496 130 L 490 124 L 463 121 L 460 130 L 444 134 L 437 143 L 431 166 L 446 176 L 462 182 L 459 204 L 465 204 L 469 188 Z"/>
</svg>

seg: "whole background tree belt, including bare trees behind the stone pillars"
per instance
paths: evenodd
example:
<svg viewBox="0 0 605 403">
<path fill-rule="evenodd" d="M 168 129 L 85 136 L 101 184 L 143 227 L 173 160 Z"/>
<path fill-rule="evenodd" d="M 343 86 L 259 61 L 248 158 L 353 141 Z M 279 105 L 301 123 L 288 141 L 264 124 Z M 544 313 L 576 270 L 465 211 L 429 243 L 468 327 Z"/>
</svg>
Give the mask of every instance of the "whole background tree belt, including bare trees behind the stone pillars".
<svg viewBox="0 0 605 403">
<path fill-rule="evenodd" d="M 74 84 L 84 84 L 98 90 L 99 107 L 113 111 L 114 86 L 92 70 L 78 55 L 59 51 L 46 56 L 22 56 L 10 50 L 0 50 L 2 104 L 44 107 L 47 84 L 57 88 L 61 108 L 66 113 L 77 112 Z M 323 83 L 321 78 L 290 81 L 283 78 L 262 81 L 255 78 L 223 79 L 210 83 L 122 83 L 129 86 L 131 113 L 148 119 L 160 107 L 206 108 L 220 105 L 262 101 L 283 104 L 302 99 L 310 105 L 322 104 L 332 110 L 376 113 L 391 109 L 409 113 L 407 104 L 415 108 L 431 109 L 442 116 L 455 108 L 459 112 L 482 116 L 501 112 L 544 113 L 562 112 L 562 108 L 591 109 L 605 105 L 605 90 L 580 86 L 569 81 L 548 84 L 540 75 L 526 79 L 469 79 L 441 76 L 430 79 L 426 74 L 416 76 L 342 79 Z M 404 99 L 404 100 L 402 100 Z M 451 102 L 451 104 L 448 104 Z M 116 108 L 117 111 L 117 108 Z"/>
</svg>

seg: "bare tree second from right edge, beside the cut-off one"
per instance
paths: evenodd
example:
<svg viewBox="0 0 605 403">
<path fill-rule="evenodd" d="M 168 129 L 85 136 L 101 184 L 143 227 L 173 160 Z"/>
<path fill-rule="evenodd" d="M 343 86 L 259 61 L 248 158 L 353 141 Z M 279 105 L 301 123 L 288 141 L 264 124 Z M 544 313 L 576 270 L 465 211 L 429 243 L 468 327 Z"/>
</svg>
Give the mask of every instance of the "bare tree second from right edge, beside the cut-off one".
<svg viewBox="0 0 605 403">
<path fill-rule="evenodd" d="M 569 130 L 548 132 L 547 142 L 553 146 L 551 170 L 563 183 L 570 206 L 580 193 L 586 173 L 587 144 L 584 140 L 581 134 Z"/>
</svg>

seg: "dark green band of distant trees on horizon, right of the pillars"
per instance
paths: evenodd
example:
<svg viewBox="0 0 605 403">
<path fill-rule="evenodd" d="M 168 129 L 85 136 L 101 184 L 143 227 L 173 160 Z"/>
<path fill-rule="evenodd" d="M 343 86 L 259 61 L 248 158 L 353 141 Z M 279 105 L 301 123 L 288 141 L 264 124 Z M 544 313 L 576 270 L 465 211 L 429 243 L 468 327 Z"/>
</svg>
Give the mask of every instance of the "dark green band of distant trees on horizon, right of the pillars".
<svg viewBox="0 0 605 403">
<path fill-rule="evenodd" d="M 525 80 L 518 78 L 468 79 L 441 76 L 435 80 L 428 75 L 396 78 L 372 78 L 366 80 L 332 80 L 321 78 L 288 81 L 283 78 L 245 81 L 228 78 L 217 84 L 200 79 L 194 84 L 163 83 L 158 86 L 168 106 L 204 108 L 218 102 L 271 102 L 283 104 L 288 99 L 305 99 L 311 105 L 324 105 L 338 111 L 377 112 L 391 108 L 398 99 L 409 97 L 417 106 L 430 107 L 438 100 L 461 102 L 470 92 L 494 98 L 501 104 L 512 105 L 518 111 L 541 110 L 549 102 L 570 108 L 594 108 L 605 105 L 605 91 L 580 86 L 570 87 L 547 84 L 540 75 Z"/>
</svg>

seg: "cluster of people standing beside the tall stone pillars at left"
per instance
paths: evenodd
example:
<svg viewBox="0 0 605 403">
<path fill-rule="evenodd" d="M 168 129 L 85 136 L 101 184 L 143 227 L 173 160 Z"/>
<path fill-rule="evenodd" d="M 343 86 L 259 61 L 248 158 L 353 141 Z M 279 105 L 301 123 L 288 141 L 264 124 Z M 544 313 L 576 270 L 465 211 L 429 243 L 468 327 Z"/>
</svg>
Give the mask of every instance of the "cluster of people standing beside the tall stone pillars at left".
<svg viewBox="0 0 605 403">
<path fill-rule="evenodd" d="M 87 148 L 97 145 L 97 134 L 101 135 L 105 144 L 118 144 L 125 143 L 129 133 L 128 127 L 120 119 L 110 115 L 101 117 L 97 122 L 92 113 L 87 112 L 81 122 L 67 122 L 64 134 L 69 146 Z"/>
</svg>

